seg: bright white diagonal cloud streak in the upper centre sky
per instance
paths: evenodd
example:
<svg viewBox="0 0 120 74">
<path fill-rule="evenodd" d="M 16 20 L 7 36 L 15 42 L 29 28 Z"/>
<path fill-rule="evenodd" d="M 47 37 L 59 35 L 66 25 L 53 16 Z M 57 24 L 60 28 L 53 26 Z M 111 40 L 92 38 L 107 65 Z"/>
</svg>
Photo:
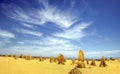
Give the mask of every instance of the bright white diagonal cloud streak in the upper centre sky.
<svg viewBox="0 0 120 74">
<path fill-rule="evenodd" d="M 46 21 L 50 21 L 59 25 L 61 27 L 69 28 L 73 25 L 77 20 L 77 16 L 73 16 L 69 11 L 61 11 L 55 6 L 49 5 L 45 1 L 41 1 L 44 5 L 44 9 L 39 10 L 38 13 L 42 18 Z"/>
</svg>

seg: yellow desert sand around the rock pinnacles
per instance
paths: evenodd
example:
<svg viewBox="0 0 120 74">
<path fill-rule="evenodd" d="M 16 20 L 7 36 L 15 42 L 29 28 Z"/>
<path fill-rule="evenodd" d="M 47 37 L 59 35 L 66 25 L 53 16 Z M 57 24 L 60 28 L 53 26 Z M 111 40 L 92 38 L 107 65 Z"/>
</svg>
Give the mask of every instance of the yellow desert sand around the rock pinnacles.
<svg viewBox="0 0 120 74">
<path fill-rule="evenodd" d="M 86 62 L 85 62 L 86 63 Z M 108 67 L 100 68 L 86 64 L 86 68 L 80 68 L 82 74 L 120 74 L 120 61 L 106 61 Z M 25 60 L 11 57 L 0 57 L 0 74 L 68 74 L 76 65 L 71 65 L 71 60 L 67 60 L 65 65 L 49 63 L 49 59 L 39 62 L 39 60 Z"/>
</svg>

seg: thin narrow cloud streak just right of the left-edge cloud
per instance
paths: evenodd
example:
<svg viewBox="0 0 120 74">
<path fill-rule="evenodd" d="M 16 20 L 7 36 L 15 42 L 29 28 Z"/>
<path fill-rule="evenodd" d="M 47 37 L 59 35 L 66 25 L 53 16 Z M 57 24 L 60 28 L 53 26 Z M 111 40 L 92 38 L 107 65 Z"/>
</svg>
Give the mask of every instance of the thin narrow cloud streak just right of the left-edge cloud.
<svg viewBox="0 0 120 74">
<path fill-rule="evenodd" d="M 29 35 L 33 35 L 33 36 L 38 36 L 38 37 L 42 36 L 42 33 L 40 33 L 40 32 L 27 30 L 27 29 L 17 29 L 17 32 L 29 34 Z"/>
</svg>

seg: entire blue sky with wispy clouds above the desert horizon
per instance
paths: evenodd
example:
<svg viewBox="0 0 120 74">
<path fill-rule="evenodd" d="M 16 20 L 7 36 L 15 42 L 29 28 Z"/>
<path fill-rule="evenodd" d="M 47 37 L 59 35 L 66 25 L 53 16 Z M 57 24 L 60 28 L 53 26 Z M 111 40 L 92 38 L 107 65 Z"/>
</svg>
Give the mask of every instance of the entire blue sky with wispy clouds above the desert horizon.
<svg viewBox="0 0 120 74">
<path fill-rule="evenodd" d="M 120 57 L 119 0 L 1 0 L 0 54 Z"/>
</svg>

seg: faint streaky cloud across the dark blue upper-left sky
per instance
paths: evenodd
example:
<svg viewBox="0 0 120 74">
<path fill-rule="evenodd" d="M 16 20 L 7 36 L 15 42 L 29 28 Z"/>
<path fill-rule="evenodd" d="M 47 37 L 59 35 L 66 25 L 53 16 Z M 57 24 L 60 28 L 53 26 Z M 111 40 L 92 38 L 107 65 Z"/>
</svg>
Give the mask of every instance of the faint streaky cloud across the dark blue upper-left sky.
<svg viewBox="0 0 120 74">
<path fill-rule="evenodd" d="M 40 18 L 38 18 L 40 16 L 38 16 L 34 11 L 28 13 L 19 6 L 12 4 L 2 4 L 2 8 L 4 9 L 3 13 L 12 19 L 39 25 L 44 23 Z"/>
</svg>

